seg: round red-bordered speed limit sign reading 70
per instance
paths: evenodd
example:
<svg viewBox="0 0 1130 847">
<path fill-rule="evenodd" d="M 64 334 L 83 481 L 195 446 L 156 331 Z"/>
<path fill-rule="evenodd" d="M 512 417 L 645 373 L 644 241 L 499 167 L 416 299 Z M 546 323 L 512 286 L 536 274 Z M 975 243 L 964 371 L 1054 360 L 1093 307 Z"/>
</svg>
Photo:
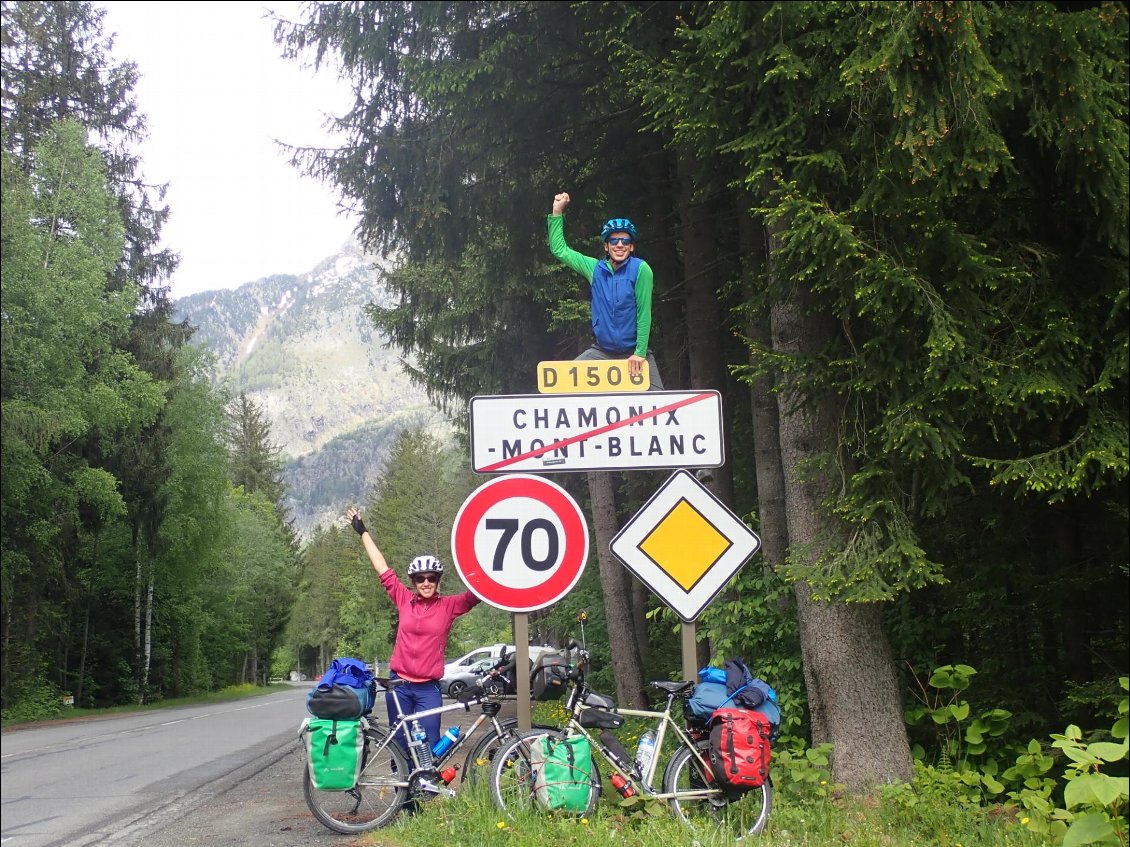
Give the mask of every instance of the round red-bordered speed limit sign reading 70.
<svg viewBox="0 0 1130 847">
<path fill-rule="evenodd" d="M 510 474 L 480 486 L 451 527 L 455 570 L 476 596 L 511 612 L 556 603 L 589 559 L 589 527 L 570 494 L 541 477 Z"/>
</svg>

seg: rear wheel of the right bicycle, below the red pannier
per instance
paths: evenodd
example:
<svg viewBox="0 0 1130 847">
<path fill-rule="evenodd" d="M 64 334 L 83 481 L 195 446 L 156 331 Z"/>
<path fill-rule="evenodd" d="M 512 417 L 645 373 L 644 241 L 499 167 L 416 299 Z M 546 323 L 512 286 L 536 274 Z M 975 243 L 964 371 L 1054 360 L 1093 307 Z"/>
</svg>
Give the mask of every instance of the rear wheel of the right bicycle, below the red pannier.
<svg viewBox="0 0 1130 847">
<path fill-rule="evenodd" d="M 663 771 L 663 792 L 675 794 L 668 802 L 679 820 L 695 830 L 722 830 L 736 840 L 760 835 L 773 809 L 773 786 L 767 779 L 759 788 L 741 794 L 715 789 L 704 796 L 701 792 L 709 785 L 692 751 L 685 746 L 675 751 Z M 686 792 L 696 796 L 679 796 Z"/>
</svg>

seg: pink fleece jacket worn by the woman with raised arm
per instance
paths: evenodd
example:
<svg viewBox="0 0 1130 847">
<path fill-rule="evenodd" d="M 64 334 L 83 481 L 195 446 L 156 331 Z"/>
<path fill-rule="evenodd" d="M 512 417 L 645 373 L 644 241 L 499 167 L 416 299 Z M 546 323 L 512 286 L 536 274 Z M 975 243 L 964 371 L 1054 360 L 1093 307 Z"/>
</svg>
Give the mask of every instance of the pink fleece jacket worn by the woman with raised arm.
<svg viewBox="0 0 1130 847">
<path fill-rule="evenodd" d="M 441 679 L 451 625 L 460 614 L 467 614 L 478 605 L 479 599 L 464 591 L 462 594 L 424 600 L 408 591 L 392 568 L 381 575 L 381 585 L 400 612 L 397 643 L 392 647 L 389 667 L 398 675 L 412 680 Z"/>
</svg>

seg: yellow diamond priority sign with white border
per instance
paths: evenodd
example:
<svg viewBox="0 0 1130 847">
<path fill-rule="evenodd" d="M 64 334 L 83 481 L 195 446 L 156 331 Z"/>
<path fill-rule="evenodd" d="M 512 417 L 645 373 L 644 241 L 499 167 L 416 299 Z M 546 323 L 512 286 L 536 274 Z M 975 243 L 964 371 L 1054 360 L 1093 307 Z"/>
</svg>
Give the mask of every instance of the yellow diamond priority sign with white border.
<svg viewBox="0 0 1130 847">
<path fill-rule="evenodd" d="M 679 470 L 608 547 L 689 623 L 760 545 L 757 533 L 694 474 Z"/>
</svg>

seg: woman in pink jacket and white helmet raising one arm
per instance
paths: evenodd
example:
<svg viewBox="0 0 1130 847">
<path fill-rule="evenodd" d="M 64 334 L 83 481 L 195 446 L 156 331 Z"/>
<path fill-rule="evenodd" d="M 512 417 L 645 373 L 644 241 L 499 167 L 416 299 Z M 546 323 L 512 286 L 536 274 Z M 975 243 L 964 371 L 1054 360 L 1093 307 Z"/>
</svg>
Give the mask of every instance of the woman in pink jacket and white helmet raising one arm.
<svg viewBox="0 0 1130 847">
<path fill-rule="evenodd" d="M 440 579 L 443 577 L 443 564 L 434 556 L 417 556 L 412 559 L 408 566 L 408 578 L 416 593 L 408 591 L 397 578 L 395 571 L 389 567 L 384 553 L 365 529 L 360 512 L 350 507 L 346 512 L 346 517 L 360 535 L 368 560 L 400 614 L 397 643 L 389 658 L 389 676 L 407 680 L 395 689 L 400 706 L 406 715 L 438 708 L 443 704 L 440 679 L 443 676 L 451 627 L 455 618 L 478 605 L 479 599 L 469 591 L 441 596 Z M 399 718 L 392 697 L 391 691 L 385 696 L 390 726 Z M 420 725 L 427 732 L 428 744 L 434 745 L 440 739 L 440 716 L 424 718 Z M 406 746 L 405 739 L 399 734 L 397 741 L 401 746 Z"/>
</svg>

